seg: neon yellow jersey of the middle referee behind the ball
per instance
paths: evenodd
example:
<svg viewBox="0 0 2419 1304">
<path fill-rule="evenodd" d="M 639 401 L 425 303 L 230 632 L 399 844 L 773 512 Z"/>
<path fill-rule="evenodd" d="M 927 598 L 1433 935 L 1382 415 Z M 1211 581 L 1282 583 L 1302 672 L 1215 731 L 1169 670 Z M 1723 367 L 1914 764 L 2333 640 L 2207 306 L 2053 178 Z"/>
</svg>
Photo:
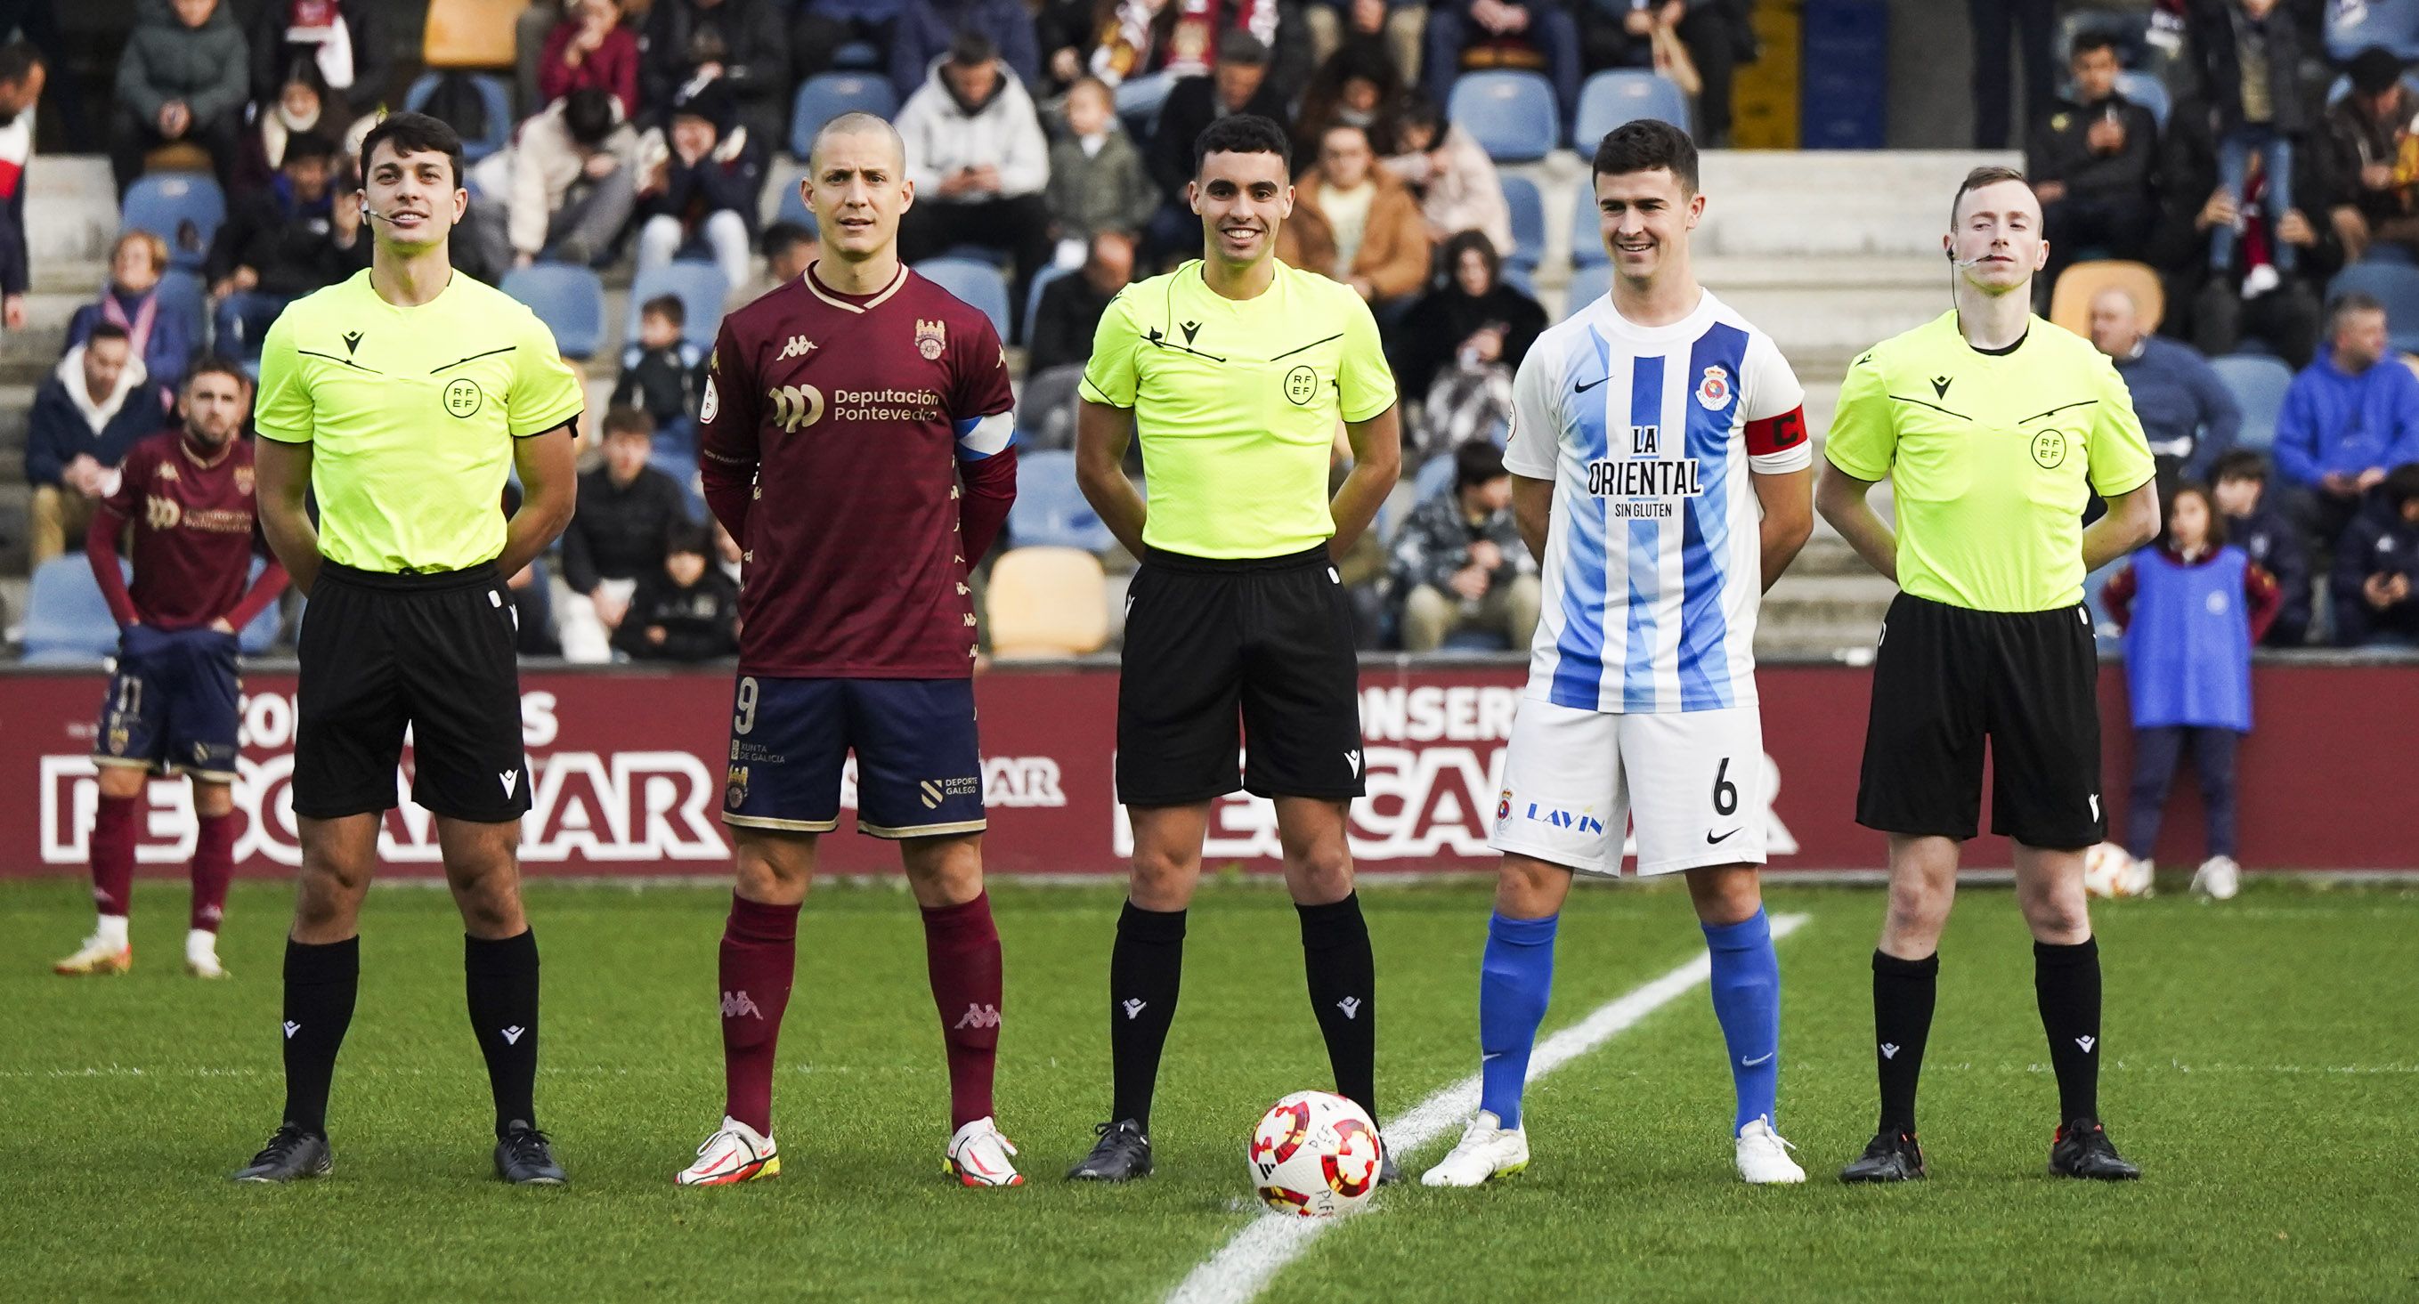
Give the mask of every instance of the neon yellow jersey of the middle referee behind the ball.
<svg viewBox="0 0 2419 1304">
<path fill-rule="evenodd" d="M 1347 285 L 1277 264 L 1268 290 L 1231 300 L 1195 259 L 1118 293 L 1081 394 L 1135 409 L 1144 544 L 1284 556 L 1335 535 L 1335 421 L 1393 406 L 1393 373 L 1369 305 Z"/>
</svg>

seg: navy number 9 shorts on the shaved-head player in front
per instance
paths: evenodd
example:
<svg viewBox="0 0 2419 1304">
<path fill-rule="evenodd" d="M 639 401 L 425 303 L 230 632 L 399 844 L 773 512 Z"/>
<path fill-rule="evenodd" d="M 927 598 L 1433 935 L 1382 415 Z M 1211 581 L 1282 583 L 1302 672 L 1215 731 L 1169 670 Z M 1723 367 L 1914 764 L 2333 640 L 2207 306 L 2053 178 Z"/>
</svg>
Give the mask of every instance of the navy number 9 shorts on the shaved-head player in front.
<svg viewBox="0 0 2419 1304">
<path fill-rule="evenodd" d="M 839 827 L 839 769 L 851 750 L 856 832 L 982 832 L 972 680 L 740 675 L 731 699 L 723 823 L 832 832 Z"/>
</svg>

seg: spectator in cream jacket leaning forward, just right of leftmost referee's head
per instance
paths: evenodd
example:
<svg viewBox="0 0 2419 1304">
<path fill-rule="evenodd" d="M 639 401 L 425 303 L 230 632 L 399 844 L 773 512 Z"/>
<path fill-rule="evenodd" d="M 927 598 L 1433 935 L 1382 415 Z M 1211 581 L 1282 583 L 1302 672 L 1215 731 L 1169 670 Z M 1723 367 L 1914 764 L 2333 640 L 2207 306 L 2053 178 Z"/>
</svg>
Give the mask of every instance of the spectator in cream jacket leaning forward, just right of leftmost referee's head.
<svg viewBox="0 0 2419 1304">
<path fill-rule="evenodd" d="M 491 278 L 537 259 L 593 266 L 639 206 L 639 131 L 610 90 L 581 87 L 520 123 L 469 169 L 464 244 Z"/>
</svg>

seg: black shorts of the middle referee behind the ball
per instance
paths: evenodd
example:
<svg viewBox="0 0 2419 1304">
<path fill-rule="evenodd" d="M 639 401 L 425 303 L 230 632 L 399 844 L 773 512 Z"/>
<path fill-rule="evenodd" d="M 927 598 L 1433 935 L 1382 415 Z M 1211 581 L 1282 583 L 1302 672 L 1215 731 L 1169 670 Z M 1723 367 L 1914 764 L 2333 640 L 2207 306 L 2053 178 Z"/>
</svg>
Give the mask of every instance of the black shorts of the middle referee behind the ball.
<svg viewBox="0 0 2419 1304">
<path fill-rule="evenodd" d="M 1241 738 L 1236 735 L 1241 706 Z M 1362 796 L 1352 605 L 1328 549 L 1210 561 L 1151 552 L 1125 598 L 1118 801 Z"/>
</svg>

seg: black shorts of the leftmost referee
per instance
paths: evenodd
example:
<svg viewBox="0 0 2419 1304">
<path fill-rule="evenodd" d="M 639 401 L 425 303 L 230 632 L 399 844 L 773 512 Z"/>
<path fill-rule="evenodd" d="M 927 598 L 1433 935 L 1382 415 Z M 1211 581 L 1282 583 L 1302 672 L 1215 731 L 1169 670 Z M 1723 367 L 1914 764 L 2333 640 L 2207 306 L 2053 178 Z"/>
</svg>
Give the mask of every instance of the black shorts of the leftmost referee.
<svg viewBox="0 0 2419 1304">
<path fill-rule="evenodd" d="M 322 564 L 295 648 L 295 815 L 389 810 L 404 728 L 411 801 L 486 825 L 525 815 L 513 636 L 493 566 L 392 576 Z"/>
</svg>

